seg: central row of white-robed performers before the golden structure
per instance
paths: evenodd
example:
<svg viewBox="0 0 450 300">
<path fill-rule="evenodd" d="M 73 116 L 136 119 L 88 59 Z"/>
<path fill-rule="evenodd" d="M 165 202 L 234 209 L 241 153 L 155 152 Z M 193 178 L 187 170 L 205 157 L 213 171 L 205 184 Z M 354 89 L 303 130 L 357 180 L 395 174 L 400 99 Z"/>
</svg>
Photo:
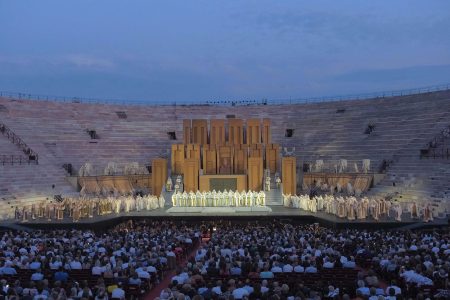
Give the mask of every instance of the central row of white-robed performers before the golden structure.
<svg viewBox="0 0 450 300">
<path fill-rule="evenodd" d="M 182 207 L 218 207 L 218 206 L 265 206 L 266 205 L 266 194 L 263 191 L 253 192 L 253 191 L 227 191 L 224 190 L 216 192 L 215 190 L 208 192 L 196 193 L 190 192 L 176 192 L 172 195 L 172 205 L 182 206 Z"/>
</svg>

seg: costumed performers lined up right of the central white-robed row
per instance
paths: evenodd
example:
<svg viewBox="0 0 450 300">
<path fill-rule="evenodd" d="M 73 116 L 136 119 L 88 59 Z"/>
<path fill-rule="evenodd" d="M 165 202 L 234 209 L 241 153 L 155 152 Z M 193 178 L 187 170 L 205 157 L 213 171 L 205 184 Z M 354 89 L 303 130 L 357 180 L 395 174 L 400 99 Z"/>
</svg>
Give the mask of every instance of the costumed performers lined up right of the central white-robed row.
<svg viewBox="0 0 450 300">
<path fill-rule="evenodd" d="M 363 220 L 372 217 L 378 221 L 380 217 L 393 217 L 397 221 L 402 220 L 403 208 L 399 202 L 392 203 L 389 200 L 377 198 L 335 197 L 333 195 L 314 196 L 309 195 L 284 195 L 285 207 L 298 208 L 316 213 L 324 211 L 339 218 L 348 220 Z M 415 202 L 409 204 L 411 218 L 422 217 L 425 222 L 433 221 L 433 212 L 430 204 L 419 207 Z M 393 213 L 392 213 L 393 212 Z"/>
</svg>

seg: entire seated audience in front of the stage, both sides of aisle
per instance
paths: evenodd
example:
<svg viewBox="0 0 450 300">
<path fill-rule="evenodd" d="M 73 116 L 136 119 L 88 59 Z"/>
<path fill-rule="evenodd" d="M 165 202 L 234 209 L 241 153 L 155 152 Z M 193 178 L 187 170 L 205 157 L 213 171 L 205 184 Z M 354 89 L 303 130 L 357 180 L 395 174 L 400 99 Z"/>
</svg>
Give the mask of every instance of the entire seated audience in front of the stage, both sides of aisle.
<svg viewBox="0 0 450 300">
<path fill-rule="evenodd" d="M 130 299 L 128 287 L 148 290 L 178 268 L 159 299 L 446 299 L 449 238 L 448 229 L 339 230 L 279 221 L 147 220 L 101 232 L 3 232 L 0 296 Z M 192 249 L 180 265 L 177 257 Z M 85 280 L 76 280 L 80 274 Z"/>
</svg>

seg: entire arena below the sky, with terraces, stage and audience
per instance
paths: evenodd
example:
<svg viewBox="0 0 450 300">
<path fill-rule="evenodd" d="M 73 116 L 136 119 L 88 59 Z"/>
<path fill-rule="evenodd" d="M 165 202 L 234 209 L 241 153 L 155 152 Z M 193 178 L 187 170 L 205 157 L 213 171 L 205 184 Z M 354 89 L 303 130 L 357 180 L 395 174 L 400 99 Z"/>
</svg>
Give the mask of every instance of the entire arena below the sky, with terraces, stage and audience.
<svg viewBox="0 0 450 300">
<path fill-rule="evenodd" d="M 449 120 L 448 89 L 311 103 L 1 97 L 0 290 L 448 299 Z"/>
</svg>

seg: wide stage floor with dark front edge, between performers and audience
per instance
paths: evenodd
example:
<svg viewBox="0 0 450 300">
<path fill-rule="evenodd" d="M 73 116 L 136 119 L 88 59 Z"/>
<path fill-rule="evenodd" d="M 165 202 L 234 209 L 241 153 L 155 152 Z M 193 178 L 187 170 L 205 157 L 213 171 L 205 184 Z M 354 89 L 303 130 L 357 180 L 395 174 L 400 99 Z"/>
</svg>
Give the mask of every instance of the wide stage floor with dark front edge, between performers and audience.
<svg viewBox="0 0 450 300">
<path fill-rule="evenodd" d="M 220 218 L 218 218 L 220 217 Z M 445 226 L 448 225 L 449 219 L 435 219 L 433 222 L 424 223 L 421 219 L 412 219 L 409 214 L 404 213 L 402 221 L 396 221 L 392 217 L 383 217 L 380 220 L 368 218 L 365 220 L 347 220 L 339 218 L 325 212 L 312 213 L 294 208 L 283 206 L 267 206 L 265 209 L 228 209 L 225 207 L 208 207 L 208 208 L 175 208 L 166 206 L 164 208 L 155 209 L 151 211 L 133 211 L 129 213 L 109 214 L 104 216 L 95 216 L 93 218 L 80 219 L 79 222 L 74 223 L 72 218 L 65 217 L 63 220 L 36 219 L 27 222 L 20 222 L 16 220 L 6 220 L 0 223 L 0 226 L 6 228 L 17 227 L 45 227 L 45 228 L 67 228 L 67 227 L 84 227 L 90 228 L 94 224 L 115 224 L 127 219 L 165 219 L 165 220 L 226 220 L 226 219 L 240 219 L 240 220 L 270 220 L 273 218 L 283 219 L 286 221 L 304 222 L 304 223 L 320 223 L 324 226 L 333 227 L 358 227 L 358 228 L 392 228 L 392 227 L 409 227 L 420 228 L 427 226 Z"/>
</svg>

